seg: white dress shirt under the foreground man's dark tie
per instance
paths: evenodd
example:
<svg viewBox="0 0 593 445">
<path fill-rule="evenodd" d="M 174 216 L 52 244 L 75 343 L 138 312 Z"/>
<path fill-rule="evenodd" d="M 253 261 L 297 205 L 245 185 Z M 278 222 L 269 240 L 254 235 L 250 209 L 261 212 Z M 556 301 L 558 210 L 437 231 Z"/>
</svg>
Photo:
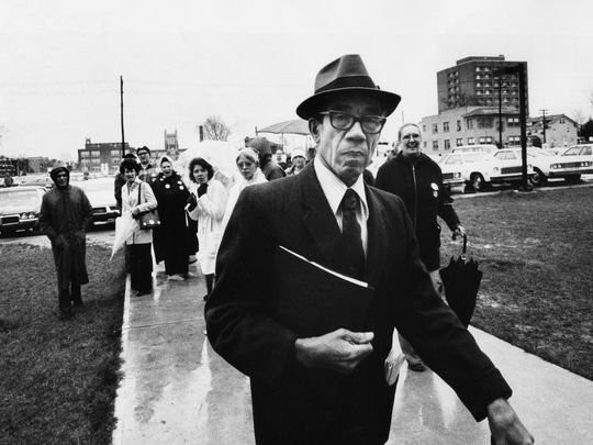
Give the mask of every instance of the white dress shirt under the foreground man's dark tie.
<svg viewBox="0 0 593 445">
<path fill-rule="evenodd" d="M 339 204 L 344 198 L 344 193 L 348 190 L 348 187 L 342 180 L 329 170 L 325 164 L 320 159 L 320 156 L 315 156 L 313 160 L 313 166 L 315 167 L 315 173 L 317 174 L 317 179 L 322 186 L 323 194 L 329 203 L 332 212 L 338 223 L 339 230 L 342 231 L 342 210 Z M 362 180 L 362 175 L 358 177 L 356 182 L 350 187 L 358 198 L 360 199 L 360 208 L 356 211 L 356 220 L 360 225 L 360 236 L 362 237 L 362 248 L 365 249 L 365 255 L 367 255 L 367 244 L 368 244 L 368 229 L 367 221 L 369 220 L 369 207 L 367 204 L 367 194 L 365 193 L 365 182 Z"/>
</svg>

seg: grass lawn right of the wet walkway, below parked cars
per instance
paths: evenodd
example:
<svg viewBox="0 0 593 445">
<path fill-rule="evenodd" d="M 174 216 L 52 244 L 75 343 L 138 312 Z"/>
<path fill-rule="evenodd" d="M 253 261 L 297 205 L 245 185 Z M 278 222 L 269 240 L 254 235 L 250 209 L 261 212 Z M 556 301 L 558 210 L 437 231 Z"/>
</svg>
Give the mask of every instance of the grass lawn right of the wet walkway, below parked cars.
<svg viewBox="0 0 593 445">
<path fill-rule="evenodd" d="M 593 188 L 457 199 L 483 270 L 471 324 L 593 379 Z M 441 266 L 461 253 L 444 225 Z"/>
</svg>

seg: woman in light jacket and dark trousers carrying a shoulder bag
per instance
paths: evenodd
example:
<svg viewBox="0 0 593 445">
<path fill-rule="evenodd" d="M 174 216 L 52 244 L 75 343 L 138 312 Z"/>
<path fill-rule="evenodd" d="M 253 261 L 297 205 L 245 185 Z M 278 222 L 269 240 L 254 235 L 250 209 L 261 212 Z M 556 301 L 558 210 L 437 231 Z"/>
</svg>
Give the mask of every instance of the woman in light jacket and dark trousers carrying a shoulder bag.
<svg viewBox="0 0 593 445">
<path fill-rule="evenodd" d="M 152 187 L 138 179 L 141 165 L 135 159 L 124 159 L 120 173 L 125 177 L 122 187 L 122 215 L 135 218 L 142 212 L 157 208 L 157 200 Z M 139 199 L 138 199 L 139 198 Z M 149 293 L 153 289 L 153 231 L 141 229 L 136 224 L 134 233 L 125 242 L 130 262 L 130 281 L 136 296 Z"/>
</svg>

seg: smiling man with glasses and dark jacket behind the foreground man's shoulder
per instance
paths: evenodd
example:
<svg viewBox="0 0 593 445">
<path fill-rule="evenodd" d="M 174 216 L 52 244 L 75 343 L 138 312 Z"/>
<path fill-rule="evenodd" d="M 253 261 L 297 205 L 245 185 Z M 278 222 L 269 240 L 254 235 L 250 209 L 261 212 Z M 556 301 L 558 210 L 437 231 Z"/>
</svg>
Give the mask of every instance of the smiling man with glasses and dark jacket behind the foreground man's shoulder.
<svg viewBox="0 0 593 445">
<path fill-rule="evenodd" d="M 466 230 L 459 222 L 449 192 L 443 186 L 440 167 L 422 153 L 419 126 L 403 124 L 398 132 L 398 143 L 401 152 L 379 168 L 374 186 L 403 200 L 418 241 L 419 257 L 430 274 L 435 289 L 440 292 L 440 225 L 437 216 L 447 223 L 454 240 L 463 236 Z M 423 371 L 425 366 L 422 358 L 401 335 L 400 344 L 410 369 Z"/>
</svg>

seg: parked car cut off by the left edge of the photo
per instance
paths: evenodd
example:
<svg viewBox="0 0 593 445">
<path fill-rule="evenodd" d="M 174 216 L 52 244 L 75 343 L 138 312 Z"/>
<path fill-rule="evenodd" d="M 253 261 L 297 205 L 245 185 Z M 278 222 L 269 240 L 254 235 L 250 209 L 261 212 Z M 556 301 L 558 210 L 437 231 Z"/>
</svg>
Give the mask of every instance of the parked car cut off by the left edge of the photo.
<svg viewBox="0 0 593 445">
<path fill-rule="evenodd" d="M 36 186 L 0 188 L 0 233 L 36 232 L 46 189 Z"/>
</svg>

